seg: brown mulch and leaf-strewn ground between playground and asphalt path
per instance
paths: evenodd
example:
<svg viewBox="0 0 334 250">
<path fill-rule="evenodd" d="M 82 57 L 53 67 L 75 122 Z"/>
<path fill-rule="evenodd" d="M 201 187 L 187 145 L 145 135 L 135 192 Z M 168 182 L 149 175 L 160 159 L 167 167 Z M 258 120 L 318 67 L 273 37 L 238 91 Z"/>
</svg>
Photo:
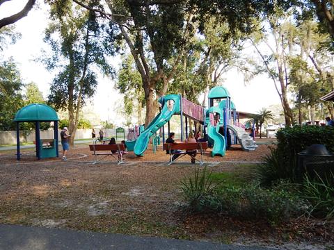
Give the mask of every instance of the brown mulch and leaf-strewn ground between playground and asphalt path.
<svg viewBox="0 0 334 250">
<path fill-rule="evenodd" d="M 206 156 L 205 161 L 209 166 L 215 162 L 214 172 L 242 172 L 249 164 L 218 161 L 260 161 L 267 152 L 260 145 L 255 152 L 234 149 L 224 158 Z M 319 244 L 314 249 L 334 241 L 330 222 L 299 218 L 270 225 L 188 213 L 180 181 L 193 174 L 194 166 L 188 158 L 168 166 L 161 149 L 157 154 L 150 149 L 142 158 L 128 153 L 125 165 L 111 160 L 93 165 L 85 145 L 72 149 L 68 158 L 38 161 L 30 149 L 17 162 L 15 151 L 1 153 L 0 223 L 238 244 Z"/>
</svg>

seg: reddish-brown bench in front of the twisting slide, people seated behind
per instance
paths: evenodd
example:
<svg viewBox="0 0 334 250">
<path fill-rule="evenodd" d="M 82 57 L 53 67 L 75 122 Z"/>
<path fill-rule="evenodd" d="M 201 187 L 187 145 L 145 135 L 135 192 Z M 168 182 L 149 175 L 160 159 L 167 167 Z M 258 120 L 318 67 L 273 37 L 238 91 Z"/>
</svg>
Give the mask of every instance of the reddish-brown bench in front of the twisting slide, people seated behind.
<svg viewBox="0 0 334 250">
<path fill-rule="evenodd" d="M 195 161 L 197 160 L 200 163 L 200 165 L 203 165 L 203 154 L 205 153 L 205 149 L 207 149 L 207 142 L 165 143 L 163 149 L 169 151 L 170 159 L 168 165 L 172 164 L 173 162 L 175 162 L 175 160 L 180 159 L 186 155 L 190 156 L 191 159 Z M 177 150 L 177 149 L 186 151 L 197 150 L 197 153 L 200 154 L 200 160 L 196 159 L 195 156 L 192 156 L 191 152 L 182 151 L 180 153 L 172 153 L 172 150 Z M 181 155 L 181 156 L 173 160 L 174 155 Z"/>
</svg>

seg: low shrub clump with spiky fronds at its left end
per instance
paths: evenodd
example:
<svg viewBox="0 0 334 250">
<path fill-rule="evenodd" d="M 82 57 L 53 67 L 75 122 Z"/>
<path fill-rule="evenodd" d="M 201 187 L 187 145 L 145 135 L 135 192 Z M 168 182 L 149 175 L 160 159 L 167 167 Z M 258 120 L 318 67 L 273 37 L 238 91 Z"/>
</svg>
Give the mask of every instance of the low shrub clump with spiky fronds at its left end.
<svg viewBox="0 0 334 250">
<path fill-rule="evenodd" d="M 290 192 L 286 185 L 276 185 L 272 190 L 251 183 L 243 188 L 235 185 L 213 183 L 211 173 L 196 169 L 195 175 L 182 182 L 182 191 L 195 212 L 223 213 L 243 219 L 267 219 L 278 223 L 304 213 L 302 199 Z"/>
</svg>

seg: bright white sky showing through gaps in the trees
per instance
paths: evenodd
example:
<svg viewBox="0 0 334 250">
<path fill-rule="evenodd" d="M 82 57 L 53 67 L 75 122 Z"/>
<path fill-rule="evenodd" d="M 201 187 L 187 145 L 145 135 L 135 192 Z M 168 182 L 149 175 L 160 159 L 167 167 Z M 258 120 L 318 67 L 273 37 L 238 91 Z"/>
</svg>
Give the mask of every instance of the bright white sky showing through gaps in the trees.
<svg viewBox="0 0 334 250">
<path fill-rule="evenodd" d="M 13 13 L 13 10 L 21 9 L 25 3 L 26 1 L 22 0 L 3 3 L 0 19 Z M 41 49 L 48 49 L 42 40 L 43 31 L 48 23 L 47 19 L 47 6 L 43 1 L 38 1 L 38 7 L 16 23 L 16 30 L 22 33 L 22 39 L 4 51 L 5 58 L 12 56 L 17 62 L 24 83 L 31 81 L 36 83 L 44 97 L 49 94 L 49 86 L 54 74 L 47 72 L 42 64 L 35 63 L 33 60 L 40 57 Z M 115 58 L 114 62 L 118 65 L 119 59 Z M 247 85 L 244 85 L 244 78 L 237 70 L 228 72 L 223 75 L 223 78 L 225 78 L 224 86 L 228 88 L 237 110 L 256 113 L 261 108 L 280 103 L 273 82 L 267 76 L 257 76 Z M 114 124 L 119 124 L 120 121 L 125 120 L 117 112 L 121 101 L 122 96 L 114 89 L 113 81 L 100 77 L 97 92 L 92 100 L 95 113 L 100 115 L 102 120 L 109 118 Z"/>
</svg>

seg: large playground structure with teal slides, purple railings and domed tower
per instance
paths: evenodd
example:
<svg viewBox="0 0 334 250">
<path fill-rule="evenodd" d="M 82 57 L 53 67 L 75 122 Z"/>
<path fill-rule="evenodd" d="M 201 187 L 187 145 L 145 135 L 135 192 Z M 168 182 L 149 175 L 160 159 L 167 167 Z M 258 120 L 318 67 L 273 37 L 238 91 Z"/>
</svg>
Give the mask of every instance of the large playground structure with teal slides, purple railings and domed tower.
<svg viewBox="0 0 334 250">
<path fill-rule="evenodd" d="M 185 134 L 188 134 L 188 119 L 193 119 L 202 125 L 205 138 L 212 144 L 212 156 L 225 156 L 225 151 L 232 144 L 241 144 L 244 151 L 252 151 L 257 148 L 256 142 L 239 124 L 239 114 L 231 101 L 230 93 L 225 88 L 218 86 L 209 92 L 209 109 L 193 103 L 180 94 L 168 94 L 159 99 L 160 113 L 143 130 L 136 140 L 127 141 L 128 151 L 134 151 L 136 156 L 143 156 L 148 148 L 151 137 L 155 137 L 157 131 L 162 134 L 165 142 L 165 124 L 168 124 L 173 115 L 181 116 L 181 141 L 184 142 L 183 117 L 185 120 Z M 207 133 L 206 133 L 207 131 Z"/>
</svg>

